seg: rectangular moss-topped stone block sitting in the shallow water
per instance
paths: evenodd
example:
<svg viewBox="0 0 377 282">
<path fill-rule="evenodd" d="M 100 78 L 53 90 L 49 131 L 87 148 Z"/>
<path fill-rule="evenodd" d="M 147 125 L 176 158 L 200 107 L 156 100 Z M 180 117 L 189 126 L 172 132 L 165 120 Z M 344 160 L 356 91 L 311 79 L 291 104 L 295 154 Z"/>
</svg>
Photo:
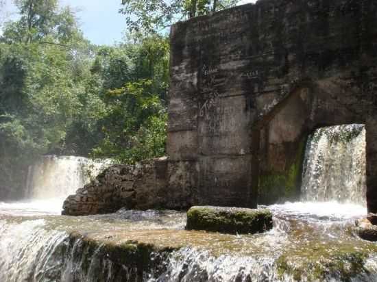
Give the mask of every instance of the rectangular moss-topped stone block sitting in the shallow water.
<svg viewBox="0 0 377 282">
<path fill-rule="evenodd" d="M 186 229 L 230 234 L 261 233 L 272 229 L 272 214 L 268 209 L 191 207 L 187 211 Z"/>
</svg>

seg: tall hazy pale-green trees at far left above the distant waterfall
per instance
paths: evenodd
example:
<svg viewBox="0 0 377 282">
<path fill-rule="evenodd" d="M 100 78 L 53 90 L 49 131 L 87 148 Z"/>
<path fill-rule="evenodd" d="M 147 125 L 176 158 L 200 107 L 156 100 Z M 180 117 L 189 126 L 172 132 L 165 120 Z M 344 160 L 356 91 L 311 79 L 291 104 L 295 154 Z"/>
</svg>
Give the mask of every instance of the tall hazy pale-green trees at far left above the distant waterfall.
<svg viewBox="0 0 377 282">
<path fill-rule="evenodd" d="M 93 53 L 69 8 L 16 4 L 20 18 L 0 36 L 0 183 L 20 191 L 35 157 L 64 149 Z"/>
</svg>

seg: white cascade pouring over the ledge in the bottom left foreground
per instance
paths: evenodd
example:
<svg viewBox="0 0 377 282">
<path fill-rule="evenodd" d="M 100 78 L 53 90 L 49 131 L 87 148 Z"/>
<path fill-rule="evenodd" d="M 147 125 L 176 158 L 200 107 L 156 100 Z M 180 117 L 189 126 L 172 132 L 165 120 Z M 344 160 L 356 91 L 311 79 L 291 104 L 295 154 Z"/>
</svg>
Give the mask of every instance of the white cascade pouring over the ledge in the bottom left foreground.
<svg viewBox="0 0 377 282">
<path fill-rule="evenodd" d="M 132 273 L 113 264 L 101 245 L 88 246 L 64 231 L 49 229 L 43 219 L 0 220 L 0 238 L 2 282 L 115 282 L 128 281 Z"/>
</svg>

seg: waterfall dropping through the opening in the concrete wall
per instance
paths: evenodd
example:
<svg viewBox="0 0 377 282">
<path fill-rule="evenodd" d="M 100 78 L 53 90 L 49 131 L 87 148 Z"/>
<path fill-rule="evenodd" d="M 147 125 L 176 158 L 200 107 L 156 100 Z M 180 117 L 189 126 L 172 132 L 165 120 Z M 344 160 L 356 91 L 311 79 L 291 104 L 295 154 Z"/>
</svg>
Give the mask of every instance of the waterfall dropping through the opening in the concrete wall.
<svg viewBox="0 0 377 282">
<path fill-rule="evenodd" d="M 322 127 L 309 136 L 302 172 L 303 201 L 366 205 L 365 127 Z"/>
</svg>

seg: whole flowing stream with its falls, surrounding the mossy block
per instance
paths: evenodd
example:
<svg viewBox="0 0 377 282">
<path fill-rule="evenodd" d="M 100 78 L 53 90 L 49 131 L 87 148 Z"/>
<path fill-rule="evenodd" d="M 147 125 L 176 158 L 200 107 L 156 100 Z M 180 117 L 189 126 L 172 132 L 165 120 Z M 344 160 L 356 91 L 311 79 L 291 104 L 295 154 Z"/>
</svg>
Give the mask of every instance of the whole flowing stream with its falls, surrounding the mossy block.
<svg viewBox="0 0 377 282">
<path fill-rule="evenodd" d="M 186 215 L 178 211 L 57 216 L 55 207 L 43 207 L 44 195 L 57 199 L 85 182 L 77 172 L 79 159 L 65 159 L 62 167 L 54 164 L 57 159 L 34 168 L 29 183 L 34 200 L 0 203 L 0 281 L 377 281 L 377 245 L 358 238 L 353 228 L 367 212 L 361 125 L 313 133 L 302 201 L 269 206 L 273 229 L 255 235 L 185 231 Z M 348 173 L 339 173 L 345 166 Z M 55 176 L 47 181 L 47 175 Z M 52 192 L 56 188 L 58 195 Z M 91 250 L 82 237 L 72 238 L 73 232 L 99 243 Z M 154 266 L 138 279 L 130 261 L 123 257 L 119 266 L 106 247 L 136 241 L 170 250 L 151 253 Z"/>
</svg>

